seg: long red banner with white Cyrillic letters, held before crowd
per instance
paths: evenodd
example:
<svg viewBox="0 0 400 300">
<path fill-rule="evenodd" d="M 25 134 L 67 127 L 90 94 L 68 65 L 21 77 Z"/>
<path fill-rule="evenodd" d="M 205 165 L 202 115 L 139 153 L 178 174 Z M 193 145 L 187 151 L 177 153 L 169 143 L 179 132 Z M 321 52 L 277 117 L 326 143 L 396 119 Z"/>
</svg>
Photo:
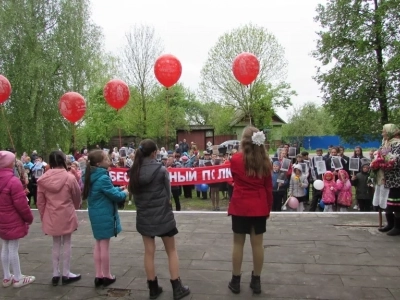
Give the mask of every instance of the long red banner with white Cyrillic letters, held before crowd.
<svg viewBox="0 0 400 300">
<path fill-rule="evenodd" d="M 111 168 L 110 177 L 114 185 L 128 185 L 126 168 Z M 231 168 L 227 165 L 199 168 L 168 168 L 171 185 L 195 185 L 227 182 L 232 180 Z"/>
</svg>

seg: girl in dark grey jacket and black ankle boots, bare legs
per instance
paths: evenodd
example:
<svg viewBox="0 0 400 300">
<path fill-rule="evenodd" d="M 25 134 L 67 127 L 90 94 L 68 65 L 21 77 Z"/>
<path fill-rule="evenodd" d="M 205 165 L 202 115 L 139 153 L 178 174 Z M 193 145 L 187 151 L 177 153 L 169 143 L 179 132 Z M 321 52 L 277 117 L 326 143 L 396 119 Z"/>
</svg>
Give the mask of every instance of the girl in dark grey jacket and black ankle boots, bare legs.
<svg viewBox="0 0 400 300">
<path fill-rule="evenodd" d="M 167 169 L 156 161 L 156 155 L 156 143 L 149 139 L 143 140 L 129 172 L 129 187 L 137 209 L 136 229 L 143 238 L 144 265 L 150 299 L 156 299 L 163 291 L 158 285 L 154 266 L 156 236 L 161 237 L 168 255 L 174 299 L 182 299 L 190 294 L 190 290 L 182 285 L 179 278 L 179 261 L 174 237 L 178 230 L 171 208 L 171 184 Z"/>
</svg>

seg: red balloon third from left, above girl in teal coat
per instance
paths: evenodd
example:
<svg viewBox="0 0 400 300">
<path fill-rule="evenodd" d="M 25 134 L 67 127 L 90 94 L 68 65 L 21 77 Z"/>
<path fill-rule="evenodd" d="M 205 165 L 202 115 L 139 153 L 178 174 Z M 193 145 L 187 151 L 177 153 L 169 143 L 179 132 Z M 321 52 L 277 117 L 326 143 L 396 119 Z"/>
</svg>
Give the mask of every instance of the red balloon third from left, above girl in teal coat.
<svg viewBox="0 0 400 300">
<path fill-rule="evenodd" d="M 104 86 L 103 95 L 111 107 L 121 109 L 128 103 L 129 87 L 122 80 L 113 79 Z"/>
</svg>

